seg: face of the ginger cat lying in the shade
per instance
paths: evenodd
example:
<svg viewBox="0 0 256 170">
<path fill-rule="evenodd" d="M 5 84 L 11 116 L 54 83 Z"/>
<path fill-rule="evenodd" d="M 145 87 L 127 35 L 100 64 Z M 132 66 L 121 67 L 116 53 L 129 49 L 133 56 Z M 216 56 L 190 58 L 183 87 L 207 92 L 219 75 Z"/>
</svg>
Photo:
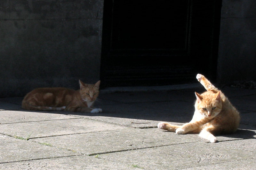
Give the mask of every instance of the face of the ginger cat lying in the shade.
<svg viewBox="0 0 256 170">
<path fill-rule="evenodd" d="M 79 80 L 80 94 L 85 102 L 94 102 L 99 96 L 100 81 L 95 84 L 85 84 Z"/>
</svg>

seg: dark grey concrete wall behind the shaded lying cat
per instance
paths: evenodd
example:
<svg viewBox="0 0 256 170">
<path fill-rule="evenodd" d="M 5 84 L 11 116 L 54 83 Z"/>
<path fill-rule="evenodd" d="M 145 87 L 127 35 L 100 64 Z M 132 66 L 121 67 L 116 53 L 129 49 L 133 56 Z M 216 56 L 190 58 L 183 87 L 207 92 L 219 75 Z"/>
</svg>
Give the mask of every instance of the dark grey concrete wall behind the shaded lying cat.
<svg viewBox="0 0 256 170">
<path fill-rule="evenodd" d="M 100 77 L 103 0 L 1 0 L 0 97 Z"/>
</svg>

